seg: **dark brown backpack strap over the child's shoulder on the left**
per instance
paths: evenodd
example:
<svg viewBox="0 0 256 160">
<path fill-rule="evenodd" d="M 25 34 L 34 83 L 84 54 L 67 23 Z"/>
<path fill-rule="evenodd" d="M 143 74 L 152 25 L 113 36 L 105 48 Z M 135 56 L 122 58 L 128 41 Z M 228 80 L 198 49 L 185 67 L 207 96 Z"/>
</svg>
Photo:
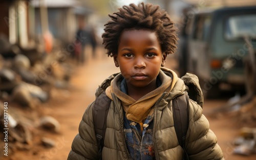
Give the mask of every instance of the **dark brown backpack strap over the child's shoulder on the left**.
<svg viewBox="0 0 256 160">
<path fill-rule="evenodd" d="M 102 148 L 106 132 L 106 118 L 108 117 L 111 99 L 103 91 L 95 100 L 93 111 L 94 130 L 98 142 L 98 155 L 101 159 Z"/>
</svg>

